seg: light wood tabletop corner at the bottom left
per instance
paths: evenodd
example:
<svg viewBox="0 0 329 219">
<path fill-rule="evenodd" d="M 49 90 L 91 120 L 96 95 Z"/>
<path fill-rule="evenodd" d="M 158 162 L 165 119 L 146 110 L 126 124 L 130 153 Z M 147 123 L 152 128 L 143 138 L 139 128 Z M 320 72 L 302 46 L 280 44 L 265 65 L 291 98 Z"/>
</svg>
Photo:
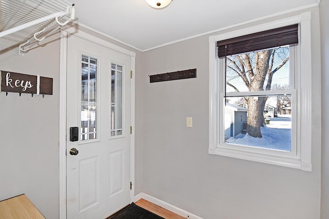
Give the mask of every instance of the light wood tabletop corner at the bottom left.
<svg viewBox="0 0 329 219">
<path fill-rule="evenodd" d="M 0 219 L 17 218 L 44 219 L 45 217 L 35 208 L 28 197 L 22 194 L 0 202 Z"/>
</svg>

